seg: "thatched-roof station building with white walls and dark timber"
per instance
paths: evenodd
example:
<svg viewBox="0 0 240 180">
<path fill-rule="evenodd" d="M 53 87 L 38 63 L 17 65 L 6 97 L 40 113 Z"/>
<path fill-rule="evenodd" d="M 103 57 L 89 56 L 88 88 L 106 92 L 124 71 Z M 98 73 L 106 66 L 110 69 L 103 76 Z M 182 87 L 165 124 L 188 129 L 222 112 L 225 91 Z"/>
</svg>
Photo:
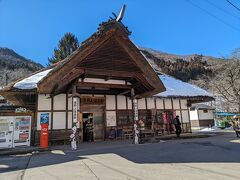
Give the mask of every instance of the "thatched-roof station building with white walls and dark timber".
<svg viewBox="0 0 240 180">
<path fill-rule="evenodd" d="M 206 91 L 167 75 L 158 75 L 129 39 L 130 31 L 116 19 L 98 31 L 63 61 L 20 79 L 0 91 L 14 105 L 34 112 L 32 144 L 39 142 L 40 119 L 49 116 L 50 141 L 67 140 L 75 123 L 77 99 L 79 141 L 85 141 L 85 121 L 93 121 L 93 140 L 130 138 L 133 100 L 146 130 L 169 132 L 180 116 L 190 132 L 188 107 L 212 100 Z M 135 108 L 135 107 L 134 107 Z M 116 136 L 112 137 L 112 131 Z"/>
</svg>

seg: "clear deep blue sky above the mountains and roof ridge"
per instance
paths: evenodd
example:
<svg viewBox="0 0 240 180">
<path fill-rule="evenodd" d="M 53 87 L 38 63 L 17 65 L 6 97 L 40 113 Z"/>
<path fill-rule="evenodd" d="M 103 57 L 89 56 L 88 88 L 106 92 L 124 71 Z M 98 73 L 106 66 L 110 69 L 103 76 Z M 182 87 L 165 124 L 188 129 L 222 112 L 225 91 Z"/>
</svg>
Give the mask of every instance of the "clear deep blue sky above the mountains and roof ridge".
<svg viewBox="0 0 240 180">
<path fill-rule="evenodd" d="M 139 46 L 216 57 L 240 47 L 240 11 L 226 0 L 0 0 L 0 47 L 46 65 L 65 32 L 81 42 L 124 3 Z"/>
</svg>

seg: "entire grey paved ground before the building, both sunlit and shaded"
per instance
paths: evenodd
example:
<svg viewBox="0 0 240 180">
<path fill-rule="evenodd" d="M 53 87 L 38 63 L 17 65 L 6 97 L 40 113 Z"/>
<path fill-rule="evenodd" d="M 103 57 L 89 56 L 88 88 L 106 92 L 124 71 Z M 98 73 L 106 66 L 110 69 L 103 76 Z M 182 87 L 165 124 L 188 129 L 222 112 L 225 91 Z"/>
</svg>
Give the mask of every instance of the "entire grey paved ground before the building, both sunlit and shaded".
<svg viewBox="0 0 240 180">
<path fill-rule="evenodd" d="M 143 145 L 85 144 L 75 152 L 58 149 L 0 157 L 0 179 L 240 179 L 240 138 L 229 132 Z"/>
</svg>

